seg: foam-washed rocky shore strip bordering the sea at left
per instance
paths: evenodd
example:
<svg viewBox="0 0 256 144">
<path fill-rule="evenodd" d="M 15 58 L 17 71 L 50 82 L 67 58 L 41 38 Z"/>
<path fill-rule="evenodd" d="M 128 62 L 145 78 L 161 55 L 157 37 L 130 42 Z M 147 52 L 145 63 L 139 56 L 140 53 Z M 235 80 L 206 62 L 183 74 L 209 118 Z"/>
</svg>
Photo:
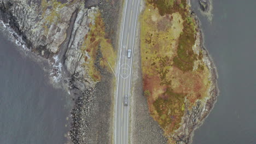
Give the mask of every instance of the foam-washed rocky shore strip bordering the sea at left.
<svg viewBox="0 0 256 144">
<path fill-rule="evenodd" d="M 5 36 L 9 41 L 11 41 L 11 43 L 17 46 L 17 50 L 21 53 L 22 57 L 29 57 L 31 61 L 36 62 L 39 67 L 41 67 L 49 76 L 49 83 L 54 88 L 61 88 L 64 91 L 67 91 L 70 95 L 68 87 L 65 85 L 65 83 L 63 83 L 63 81 L 68 79 L 68 77 L 65 75 L 67 71 L 66 69 L 63 69 L 62 64 L 60 64 L 58 55 L 54 55 L 49 59 L 38 55 L 27 47 L 26 41 L 24 41 L 22 35 L 19 35 L 15 29 L 9 25 L 9 23 L 5 23 L 4 21 L 0 20 L 0 25 L 3 27 L 1 31 L 8 33 Z"/>
</svg>

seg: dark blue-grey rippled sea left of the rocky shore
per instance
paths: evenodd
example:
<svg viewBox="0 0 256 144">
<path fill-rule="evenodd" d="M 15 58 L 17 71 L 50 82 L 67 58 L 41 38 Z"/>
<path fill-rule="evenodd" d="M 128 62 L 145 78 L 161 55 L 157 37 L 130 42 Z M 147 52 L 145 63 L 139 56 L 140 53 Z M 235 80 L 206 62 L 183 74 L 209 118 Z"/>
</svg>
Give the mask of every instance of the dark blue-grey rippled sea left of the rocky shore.
<svg viewBox="0 0 256 144">
<path fill-rule="evenodd" d="M 6 35 L 0 31 L 0 143 L 65 143 L 67 93 Z"/>
</svg>

